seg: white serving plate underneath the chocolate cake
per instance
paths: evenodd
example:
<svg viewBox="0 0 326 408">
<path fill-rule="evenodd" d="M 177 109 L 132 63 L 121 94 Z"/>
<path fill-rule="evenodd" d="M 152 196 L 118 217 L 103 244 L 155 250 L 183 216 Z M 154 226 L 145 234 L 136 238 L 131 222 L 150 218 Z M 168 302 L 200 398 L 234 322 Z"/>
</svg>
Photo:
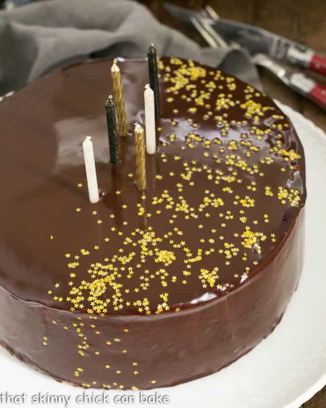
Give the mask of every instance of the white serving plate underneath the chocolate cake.
<svg viewBox="0 0 326 408">
<path fill-rule="evenodd" d="M 275 331 L 254 350 L 222 371 L 175 387 L 150 390 L 168 395 L 172 408 L 299 408 L 326 384 L 326 135 L 312 122 L 279 103 L 292 120 L 303 143 L 307 165 L 305 263 L 299 287 Z M 32 404 L 33 395 L 70 396 L 68 407 L 105 407 L 78 404 L 82 388 L 59 383 L 12 357 L 0 348 L 0 396 L 27 394 L 25 407 L 64 407 Z M 102 395 L 86 390 L 87 395 Z M 139 392 L 107 391 L 110 406 L 117 396 Z M 1 405 L 1 400 L 0 400 Z M 10 407 L 11 404 L 2 406 Z M 164 404 L 163 404 L 164 406 Z"/>
</svg>

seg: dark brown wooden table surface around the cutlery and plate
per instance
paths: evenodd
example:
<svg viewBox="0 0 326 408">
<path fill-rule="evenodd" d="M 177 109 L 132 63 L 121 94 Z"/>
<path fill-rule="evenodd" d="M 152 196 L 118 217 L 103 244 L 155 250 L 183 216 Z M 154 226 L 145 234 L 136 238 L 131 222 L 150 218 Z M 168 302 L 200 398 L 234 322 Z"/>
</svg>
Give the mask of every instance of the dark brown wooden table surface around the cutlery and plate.
<svg viewBox="0 0 326 408">
<path fill-rule="evenodd" d="M 326 55 L 326 1 L 325 0 L 169 0 L 172 3 L 201 9 L 212 6 L 225 18 L 254 24 L 279 35 L 300 41 Z M 196 30 L 172 18 L 163 8 L 161 0 L 143 0 L 153 14 L 164 24 L 173 27 L 192 39 L 206 45 Z M 273 98 L 291 106 L 326 132 L 326 113 L 303 97 L 294 94 L 278 79 L 264 70 L 259 70 L 264 91 Z M 326 85 L 326 78 L 311 74 Z M 279 408 L 279 407 L 275 407 Z M 326 408 L 326 387 L 302 408 Z"/>
</svg>

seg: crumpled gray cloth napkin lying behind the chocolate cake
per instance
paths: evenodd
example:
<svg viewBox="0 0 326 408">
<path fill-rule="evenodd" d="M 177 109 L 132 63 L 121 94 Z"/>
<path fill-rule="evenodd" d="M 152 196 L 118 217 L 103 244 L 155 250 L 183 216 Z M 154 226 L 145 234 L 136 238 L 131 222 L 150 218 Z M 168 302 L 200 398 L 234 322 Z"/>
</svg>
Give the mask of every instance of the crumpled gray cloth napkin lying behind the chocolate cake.
<svg viewBox="0 0 326 408">
<path fill-rule="evenodd" d="M 201 48 L 138 2 L 48 0 L 0 12 L 0 94 L 89 58 L 145 56 L 152 41 L 159 55 L 192 58 L 260 88 L 243 51 Z"/>
</svg>

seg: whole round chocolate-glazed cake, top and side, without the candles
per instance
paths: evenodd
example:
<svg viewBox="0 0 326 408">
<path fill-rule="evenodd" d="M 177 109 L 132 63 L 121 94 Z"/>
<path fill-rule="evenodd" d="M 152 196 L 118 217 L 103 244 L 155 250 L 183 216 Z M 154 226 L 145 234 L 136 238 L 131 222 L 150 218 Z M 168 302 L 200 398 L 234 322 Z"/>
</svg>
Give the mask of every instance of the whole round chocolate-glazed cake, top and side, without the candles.
<svg viewBox="0 0 326 408">
<path fill-rule="evenodd" d="M 56 70 L 0 103 L 0 342 L 84 387 L 170 386 L 234 362 L 282 318 L 302 265 L 304 153 L 265 94 L 163 57 L 158 149 L 139 191 L 147 61 L 119 60 L 120 166 L 104 109 L 111 65 Z"/>
</svg>

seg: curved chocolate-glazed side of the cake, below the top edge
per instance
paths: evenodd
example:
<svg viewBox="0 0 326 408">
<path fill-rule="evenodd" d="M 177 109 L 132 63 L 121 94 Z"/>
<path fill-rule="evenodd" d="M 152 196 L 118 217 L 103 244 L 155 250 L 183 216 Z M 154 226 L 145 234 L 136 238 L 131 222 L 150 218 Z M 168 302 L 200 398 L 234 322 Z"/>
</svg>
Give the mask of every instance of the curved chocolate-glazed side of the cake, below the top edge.
<svg viewBox="0 0 326 408">
<path fill-rule="evenodd" d="M 304 212 L 277 255 L 241 289 L 178 314 L 94 318 L 25 302 L 1 288 L 0 344 L 42 372 L 86 388 L 194 380 L 233 363 L 273 331 L 298 284 L 303 241 Z M 81 334 L 89 344 L 82 358 Z"/>
</svg>

